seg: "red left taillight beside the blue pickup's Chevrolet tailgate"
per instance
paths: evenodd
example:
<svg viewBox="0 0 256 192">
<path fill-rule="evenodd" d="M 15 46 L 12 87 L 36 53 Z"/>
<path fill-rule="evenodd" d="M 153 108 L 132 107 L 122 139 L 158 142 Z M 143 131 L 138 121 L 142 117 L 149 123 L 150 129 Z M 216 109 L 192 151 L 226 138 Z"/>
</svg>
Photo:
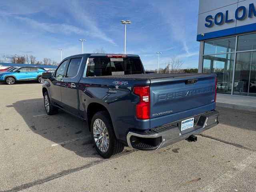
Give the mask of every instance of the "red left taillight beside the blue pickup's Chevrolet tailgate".
<svg viewBox="0 0 256 192">
<path fill-rule="evenodd" d="M 140 96 L 140 102 L 136 104 L 136 117 L 138 119 L 150 119 L 150 88 L 149 86 L 135 86 L 134 94 Z"/>
</svg>

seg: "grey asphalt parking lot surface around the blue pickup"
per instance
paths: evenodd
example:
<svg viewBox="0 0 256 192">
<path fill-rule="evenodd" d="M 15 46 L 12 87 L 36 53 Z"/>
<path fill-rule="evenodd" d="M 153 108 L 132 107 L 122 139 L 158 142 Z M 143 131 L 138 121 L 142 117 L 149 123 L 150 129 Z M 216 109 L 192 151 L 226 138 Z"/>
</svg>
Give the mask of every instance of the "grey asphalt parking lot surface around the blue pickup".
<svg viewBox="0 0 256 192">
<path fill-rule="evenodd" d="M 255 112 L 217 108 L 197 142 L 104 160 L 86 122 L 46 115 L 41 87 L 0 84 L 0 191 L 256 191 Z"/>
</svg>

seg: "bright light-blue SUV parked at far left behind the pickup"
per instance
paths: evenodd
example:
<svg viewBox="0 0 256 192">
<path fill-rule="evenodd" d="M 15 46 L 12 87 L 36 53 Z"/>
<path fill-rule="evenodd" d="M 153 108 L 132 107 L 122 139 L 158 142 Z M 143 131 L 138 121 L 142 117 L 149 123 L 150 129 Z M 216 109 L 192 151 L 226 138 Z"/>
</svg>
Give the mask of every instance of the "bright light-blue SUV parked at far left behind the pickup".
<svg viewBox="0 0 256 192">
<path fill-rule="evenodd" d="M 21 81 L 37 81 L 43 83 L 42 73 L 46 72 L 43 68 L 38 67 L 21 67 L 12 72 L 4 72 L 0 74 L 0 82 L 14 84 Z"/>
</svg>

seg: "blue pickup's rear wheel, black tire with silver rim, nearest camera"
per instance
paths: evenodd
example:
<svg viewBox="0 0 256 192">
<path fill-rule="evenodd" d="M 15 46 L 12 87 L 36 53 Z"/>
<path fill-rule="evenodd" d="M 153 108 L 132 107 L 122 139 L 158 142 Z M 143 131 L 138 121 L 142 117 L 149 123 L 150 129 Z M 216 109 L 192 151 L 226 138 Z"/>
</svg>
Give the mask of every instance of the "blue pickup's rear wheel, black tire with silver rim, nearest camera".
<svg viewBox="0 0 256 192">
<path fill-rule="evenodd" d="M 124 144 L 116 139 L 111 118 L 107 111 L 94 114 L 91 122 L 91 134 L 97 152 L 103 158 L 110 158 L 124 150 Z"/>
</svg>

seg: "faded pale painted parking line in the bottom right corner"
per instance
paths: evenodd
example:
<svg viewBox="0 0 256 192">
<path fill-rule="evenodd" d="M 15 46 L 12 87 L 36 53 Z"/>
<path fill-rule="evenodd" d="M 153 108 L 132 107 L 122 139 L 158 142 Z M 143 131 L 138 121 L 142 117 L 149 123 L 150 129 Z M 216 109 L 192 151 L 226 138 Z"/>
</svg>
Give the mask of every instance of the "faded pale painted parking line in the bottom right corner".
<svg viewBox="0 0 256 192">
<path fill-rule="evenodd" d="M 248 167 L 252 162 L 255 162 L 255 161 L 256 161 L 256 153 L 253 153 L 250 156 L 248 156 L 246 159 L 242 160 L 242 162 L 232 167 L 231 170 L 227 171 L 225 174 L 218 177 L 208 186 L 204 187 L 203 191 L 214 192 L 218 190 L 218 188 L 220 188 L 223 184 L 228 182 L 238 173 L 242 172 L 246 167 Z"/>
</svg>

